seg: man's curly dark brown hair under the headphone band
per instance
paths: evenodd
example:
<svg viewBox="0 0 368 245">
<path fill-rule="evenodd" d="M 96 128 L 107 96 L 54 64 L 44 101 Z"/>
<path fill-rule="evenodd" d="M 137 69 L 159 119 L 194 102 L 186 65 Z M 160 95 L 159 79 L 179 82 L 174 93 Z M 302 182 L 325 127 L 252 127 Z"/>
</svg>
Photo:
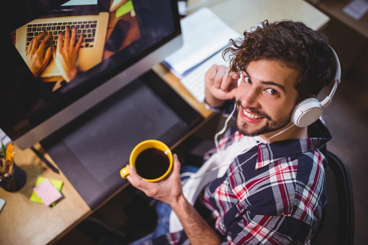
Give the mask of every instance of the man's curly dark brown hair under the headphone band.
<svg viewBox="0 0 368 245">
<path fill-rule="evenodd" d="M 223 52 L 223 57 L 230 54 L 231 71 L 240 74 L 255 60 L 279 60 L 299 73 L 296 103 L 317 95 L 335 75 L 335 57 L 327 37 L 303 22 L 265 20 L 243 34 L 244 39 L 230 39 L 232 46 Z"/>
</svg>

